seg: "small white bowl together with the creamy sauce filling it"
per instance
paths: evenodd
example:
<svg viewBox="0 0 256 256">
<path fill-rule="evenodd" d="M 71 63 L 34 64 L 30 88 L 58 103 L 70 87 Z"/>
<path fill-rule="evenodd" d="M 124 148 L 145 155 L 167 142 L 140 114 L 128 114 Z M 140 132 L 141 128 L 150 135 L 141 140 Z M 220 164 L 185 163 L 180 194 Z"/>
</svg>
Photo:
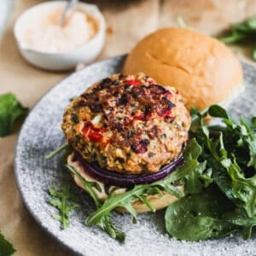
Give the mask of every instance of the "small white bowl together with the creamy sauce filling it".
<svg viewBox="0 0 256 256">
<path fill-rule="evenodd" d="M 89 64 L 105 44 L 106 21 L 95 4 L 78 3 L 61 15 L 67 1 L 39 3 L 15 22 L 14 33 L 20 54 L 32 65 L 47 70 L 72 69 Z"/>
</svg>

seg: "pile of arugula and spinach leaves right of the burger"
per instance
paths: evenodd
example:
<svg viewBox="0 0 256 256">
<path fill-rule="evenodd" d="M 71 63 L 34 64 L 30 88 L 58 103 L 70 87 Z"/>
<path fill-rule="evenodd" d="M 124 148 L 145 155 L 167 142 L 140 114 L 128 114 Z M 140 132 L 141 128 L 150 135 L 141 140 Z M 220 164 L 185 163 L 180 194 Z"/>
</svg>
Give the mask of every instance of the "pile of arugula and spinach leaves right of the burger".
<svg viewBox="0 0 256 256">
<path fill-rule="evenodd" d="M 204 125 L 206 114 L 222 123 Z M 204 114 L 194 114 L 190 137 L 201 145 L 198 159 L 207 179 L 195 177 L 194 172 L 186 177 L 187 195 L 167 208 L 166 230 L 189 241 L 226 236 L 236 230 L 249 238 L 256 224 L 255 118 L 241 118 L 236 123 L 224 108 L 214 105 Z M 194 183 L 197 189 L 190 189 Z"/>
</svg>

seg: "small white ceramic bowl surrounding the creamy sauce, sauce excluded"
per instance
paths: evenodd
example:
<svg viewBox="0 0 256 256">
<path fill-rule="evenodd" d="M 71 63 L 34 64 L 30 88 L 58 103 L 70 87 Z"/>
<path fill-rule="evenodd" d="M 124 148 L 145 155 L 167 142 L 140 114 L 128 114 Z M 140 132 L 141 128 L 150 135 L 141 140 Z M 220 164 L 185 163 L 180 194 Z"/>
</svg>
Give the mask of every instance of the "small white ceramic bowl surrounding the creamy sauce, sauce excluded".
<svg viewBox="0 0 256 256">
<path fill-rule="evenodd" d="M 29 49 L 26 42 L 22 42 L 21 32 L 26 26 L 26 20 L 30 15 L 38 11 L 38 9 L 46 10 L 66 6 L 67 1 L 53 1 L 38 4 L 31 9 L 26 10 L 25 13 L 20 15 L 19 19 L 15 22 L 15 39 L 20 49 L 20 54 L 32 65 L 41 67 L 48 70 L 67 70 L 75 67 L 79 62 L 90 63 L 94 61 L 102 52 L 105 43 L 106 34 L 106 21 L 100 10 L 94 4 L 79 3 L 78 9 L 84 10 L 84 13 L 90 15 L 96 20 L 98 29 L 96 35 L 87 41 L 85 44 L 80 45 L 75 49 L 63 52 L 45 52 L 36 49 Z"/>
</svg>

